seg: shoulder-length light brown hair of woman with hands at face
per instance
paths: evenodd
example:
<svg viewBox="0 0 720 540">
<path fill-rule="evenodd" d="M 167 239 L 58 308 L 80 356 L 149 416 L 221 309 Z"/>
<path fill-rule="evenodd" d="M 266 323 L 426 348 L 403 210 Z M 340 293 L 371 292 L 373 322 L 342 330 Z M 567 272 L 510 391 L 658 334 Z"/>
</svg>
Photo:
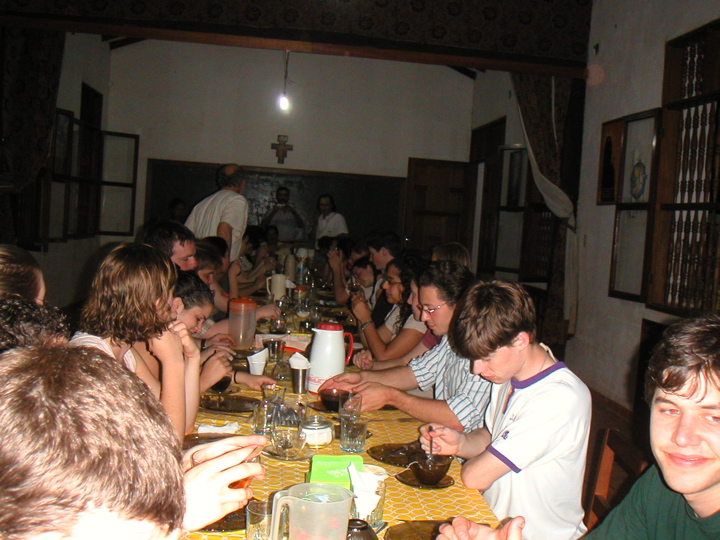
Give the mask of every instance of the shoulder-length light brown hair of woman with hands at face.
<svg viewBox="0 0 720 540">
<path fill-rule="evenodd" d="M 103 260 L 82 312 L 90 334 L 135 343 L 159 336 L 172 320 L 177 279 L 170 257 L 144 244 L 120 244 Z"/>
</svg>

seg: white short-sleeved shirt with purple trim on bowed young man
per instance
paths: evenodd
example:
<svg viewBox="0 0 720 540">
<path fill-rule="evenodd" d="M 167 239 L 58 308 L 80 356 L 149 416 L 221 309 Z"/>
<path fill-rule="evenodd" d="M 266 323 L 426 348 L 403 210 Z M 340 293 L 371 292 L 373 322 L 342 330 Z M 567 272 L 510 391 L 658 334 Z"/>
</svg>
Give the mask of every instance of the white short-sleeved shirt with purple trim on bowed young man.
<svg viewBox="0 0 720 540">
<path fill-rule="evenodd" d="M 591 410 L 589 390 L 563 362 L 525 381 L 493 385 L 487 451 L 511 472 L 483 497 L 498 519 L 525 517 L 525 540 L 585 533 L 581 499 Z"/>
</svg>

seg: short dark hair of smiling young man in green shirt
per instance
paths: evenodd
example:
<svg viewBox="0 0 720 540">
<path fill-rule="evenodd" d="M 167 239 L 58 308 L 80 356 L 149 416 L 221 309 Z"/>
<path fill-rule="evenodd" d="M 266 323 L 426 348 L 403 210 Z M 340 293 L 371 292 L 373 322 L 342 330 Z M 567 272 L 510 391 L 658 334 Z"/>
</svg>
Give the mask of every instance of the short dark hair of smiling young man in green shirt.
<svg viewBox="0 0 720 540">
<path fill-rule="evenodd" d="M 655 347 L 645 374 L 645 399 L 655 390 L 676 393 L 690 383 L 694 394 L 700 379 L 720 387 L 720 316 L 685 319 L 668 327 Z"/>
</svg>

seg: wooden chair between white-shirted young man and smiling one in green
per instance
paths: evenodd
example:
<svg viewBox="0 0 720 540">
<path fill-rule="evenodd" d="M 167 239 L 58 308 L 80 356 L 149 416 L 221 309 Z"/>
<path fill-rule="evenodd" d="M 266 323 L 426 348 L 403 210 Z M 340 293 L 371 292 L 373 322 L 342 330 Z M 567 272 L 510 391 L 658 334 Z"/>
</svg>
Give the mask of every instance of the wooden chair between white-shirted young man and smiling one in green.
<svg viewBox="0 0 720 540">
<path fill-rule="evenodd" d="M 592 530 L 630 491 L 635 480 L 648 468 L 645 456 L 617 430 L 602 429 L 599 433 L 600 457 L 597 468 L 591 471 L 590 486 L 586 492 L 585 525 Z M 615 466 L 625 474 L 620 485 L 610 493 Z M 617 477 L 616 477 L 617 479 Z"/>
</svg>

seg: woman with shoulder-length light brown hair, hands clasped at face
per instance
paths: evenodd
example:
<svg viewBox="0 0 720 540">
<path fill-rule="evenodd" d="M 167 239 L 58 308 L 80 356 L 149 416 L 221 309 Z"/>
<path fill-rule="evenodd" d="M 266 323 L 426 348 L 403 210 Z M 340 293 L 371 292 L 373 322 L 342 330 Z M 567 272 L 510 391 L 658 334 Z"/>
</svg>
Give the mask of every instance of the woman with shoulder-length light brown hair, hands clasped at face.
<svg viewBox="0 0 720 540">
<path fill-rule="evenodd" d="M 160 393 L 177 435 L 189 433 L 200 401 L 200 349 L 170 302 L 177 279 L 172 261 L 144 244 L 120 244 L 100 264 L 72 341 L 111 355 Z M 132 346 L 147 342 L 162 364 L 160 385 Z"/>
</svg>

